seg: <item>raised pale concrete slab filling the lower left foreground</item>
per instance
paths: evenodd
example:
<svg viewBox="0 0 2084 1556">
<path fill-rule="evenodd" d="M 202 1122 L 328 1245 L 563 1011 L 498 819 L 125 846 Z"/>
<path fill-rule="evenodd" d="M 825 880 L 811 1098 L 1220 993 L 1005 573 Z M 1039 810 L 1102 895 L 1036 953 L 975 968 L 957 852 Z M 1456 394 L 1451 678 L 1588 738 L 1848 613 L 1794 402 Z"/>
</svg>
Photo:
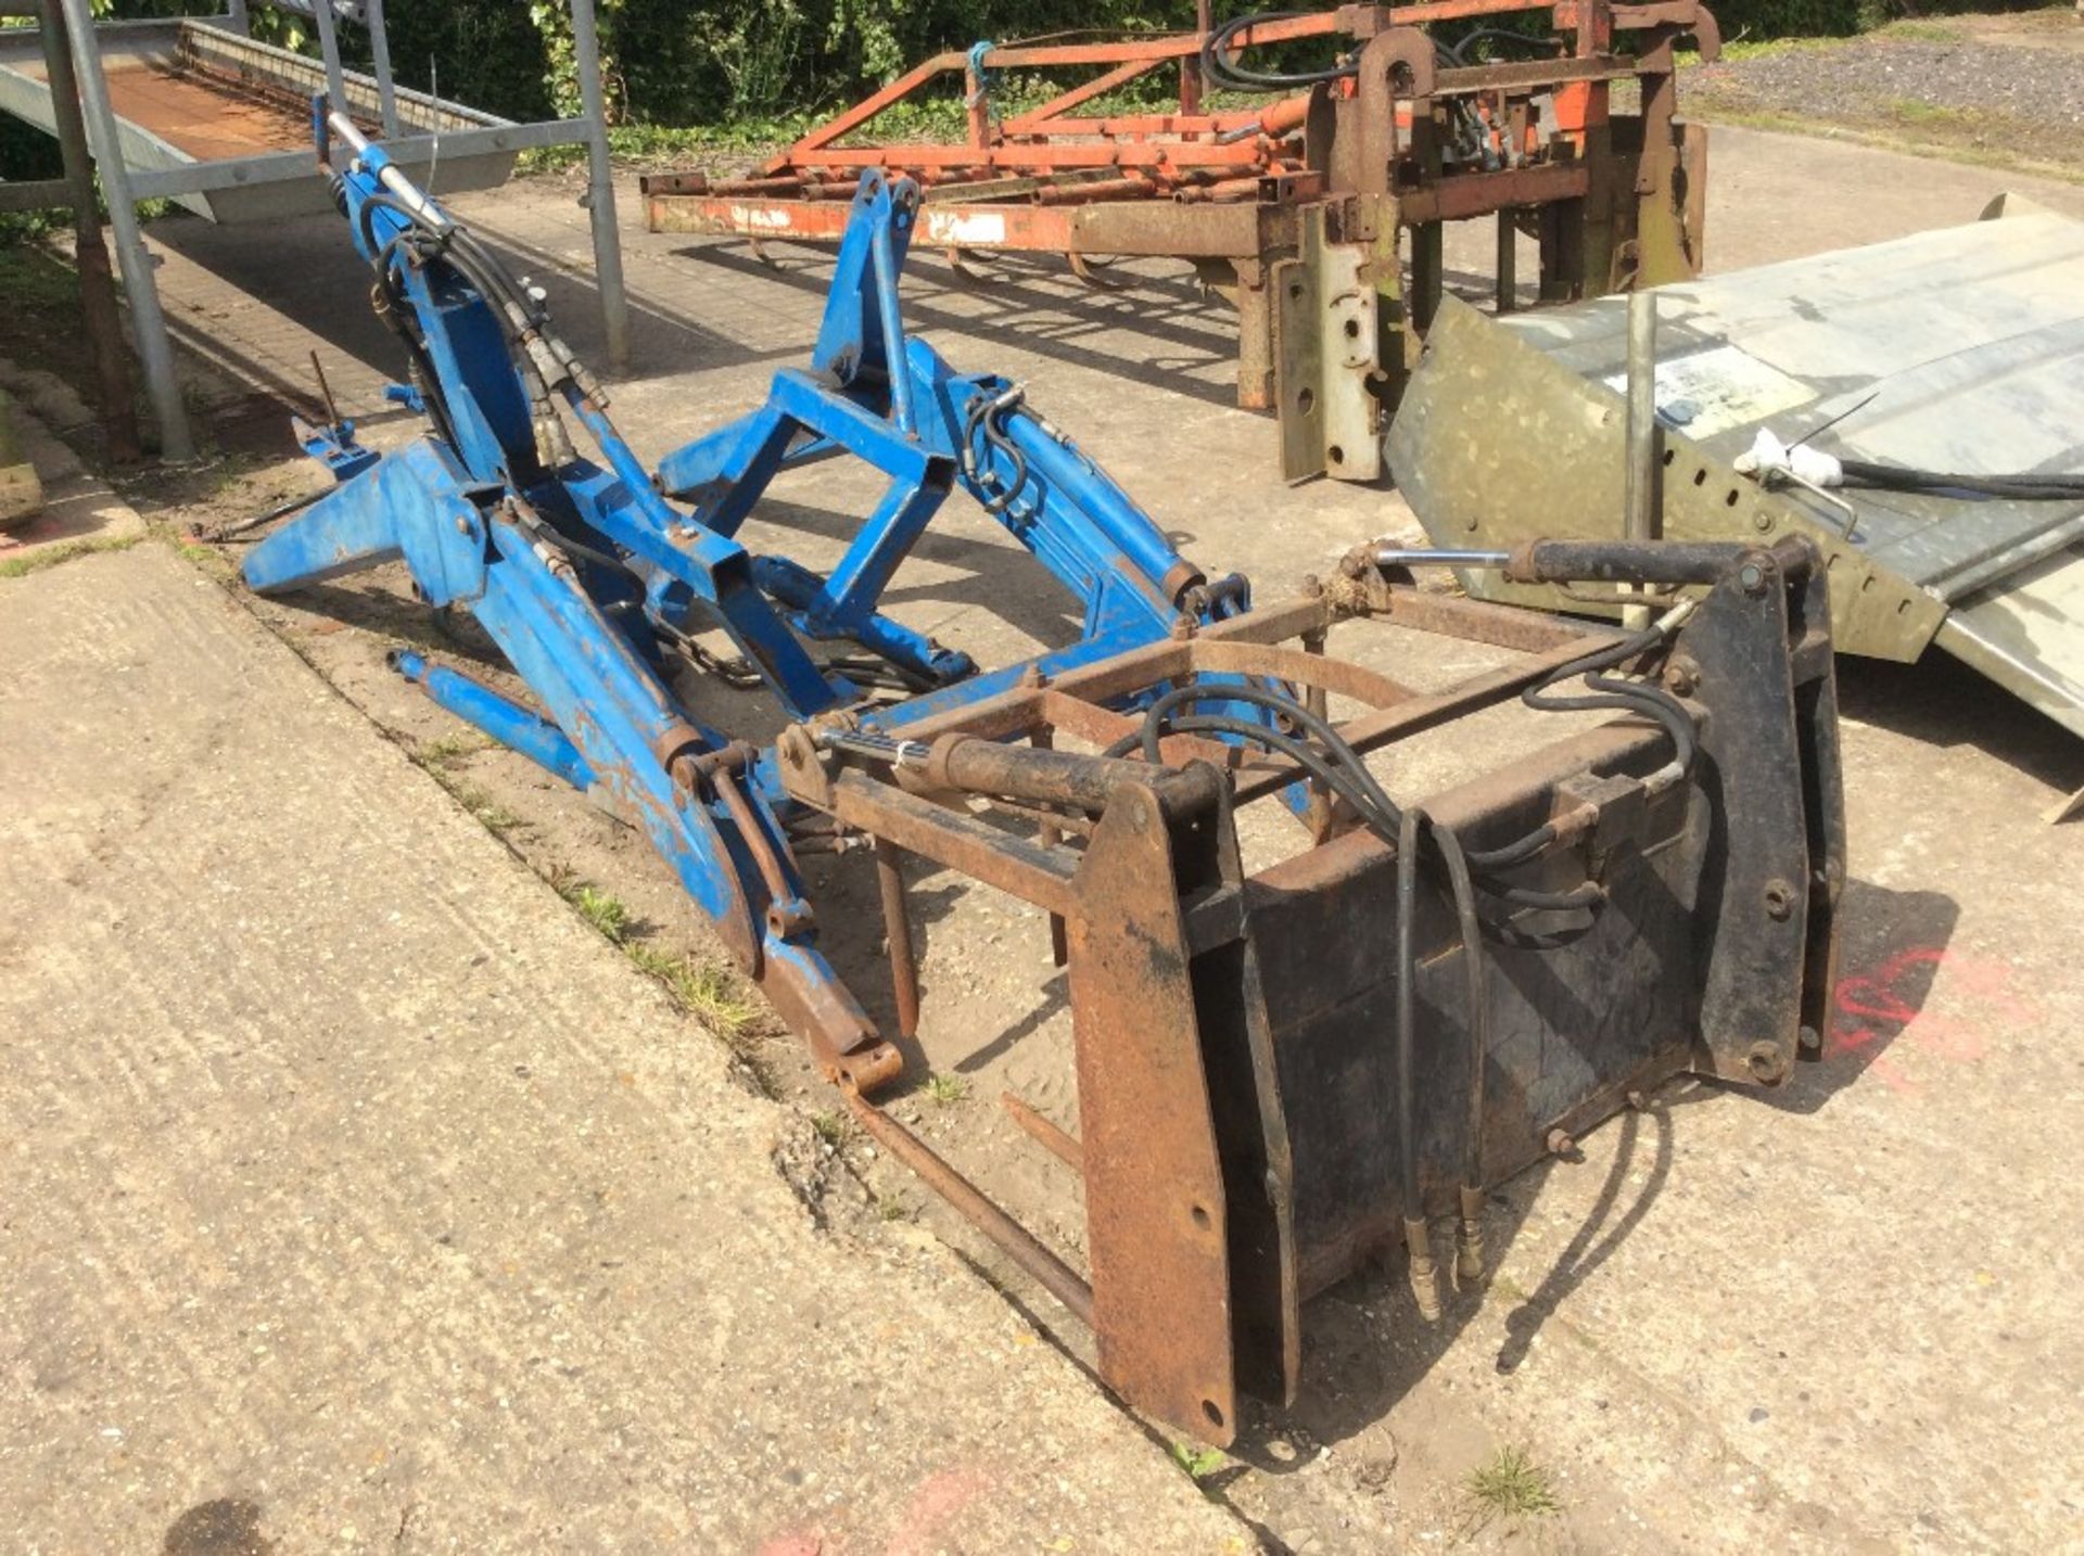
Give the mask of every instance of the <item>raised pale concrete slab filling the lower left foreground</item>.
<svg viewBox="0 0 2084 1556">
<path fill-rule="evenodd" d="M 1244 1550 L 221 587 L 0 581 L 8 1550 Z"/>
</svg>

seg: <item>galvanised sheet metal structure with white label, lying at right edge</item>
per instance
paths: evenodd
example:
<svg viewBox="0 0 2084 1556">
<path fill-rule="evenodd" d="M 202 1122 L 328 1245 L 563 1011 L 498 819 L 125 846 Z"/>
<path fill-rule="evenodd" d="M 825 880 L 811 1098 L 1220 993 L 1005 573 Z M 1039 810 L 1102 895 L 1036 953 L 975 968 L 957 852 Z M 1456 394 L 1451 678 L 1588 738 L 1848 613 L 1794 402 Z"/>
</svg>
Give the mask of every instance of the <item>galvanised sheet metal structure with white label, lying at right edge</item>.
<svg viewBox="0 0 2084 1556">
<path fill-rule="evenodd" d="M 1832 556 L 1840 648 L 1907 660 L 1936 642 L 2084 733 L 2084 502 L 1846 490 L 1846 515 L 1730 471 L 1761 427 L 1917 469 L 2084 469 L 2084 225 L 2034 210 L 1657 298 L 1665 533 L 1803 529 Z M 1559 498 L 1573 529 L 1619 533 L 1623 354 L 1617 300 L 1496 329 L 1457 315 L 1450 335 L 1436 331 L 1390 435 L 1434 539 L 1509 544 L 1553 525 Z M 1488 435 L 1484 460 L 1459 446 L 1498 425 L 1517 429 L 1517 452 Z M 1696 496 L 1728 498 L 1728 512 Z M 1565 604 L 1467 581 L 1490 598 Z"/>
</svg>

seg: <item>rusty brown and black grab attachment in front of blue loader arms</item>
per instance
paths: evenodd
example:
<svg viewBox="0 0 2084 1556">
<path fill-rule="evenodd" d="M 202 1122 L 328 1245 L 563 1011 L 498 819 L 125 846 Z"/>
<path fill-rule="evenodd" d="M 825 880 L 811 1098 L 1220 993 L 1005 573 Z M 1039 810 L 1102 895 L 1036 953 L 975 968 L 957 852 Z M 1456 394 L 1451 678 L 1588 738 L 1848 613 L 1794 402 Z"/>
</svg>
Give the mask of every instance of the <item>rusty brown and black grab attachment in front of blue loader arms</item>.
<svg viewBox="0 0 2084 1556">
<path fill-rule="evenodd" d="M 1050 1291 L 1077 1308 L 1090 1279 L 1107 1383 L 1215 1444 L 1232 1439 L 1240 1396 L 1294 1398 L 1307 1300 L 1403 1239 L 1407 1152 L 1423 1214 L 1459 1216 L 1467 1275 L 1484 1185 L 1665 1077 L 1780 1083 L 1828 1010 L 1844 817 L 1828 585 L 1798 542 L 1523 558 L 1544 577 L 1711 579 L 1638 664 L 1680 687 L 1669 706 L 1696 754 L 1682 767 L 1669 727 L 1623 717 L 1428 796 L 1428 825 L 1469 858 L 1548 839 L 1486 864 L 1486 892 L 1532 896 L 1486 898 L 1475 944 L 1432 869 L 1403 917 L 1394 839 L 1353 814 L 1305 814 L 1315 842 L 1246 875 L 1236 808 L 1294 787 L 1305 773 L 1288 756 L 1194 731 L 1165 735 L 1159 764 L 1094 754 L 1136 735 L 1138 700 L 1163 687 L 1284 685 L 1319 714 L 1336 696 L 1359 704 L 1338 737 L 1382 750 L 1630 650 L 1598 625 L 1419 592 L 1367 556 L 1309 598 L 921 719 L 902 760 L 888 737 L 865 754 L 782 742 L 790 792 L 875 839 L 892 925 L 896 848 L 1063 917 L 1077 1133 L 1019 1098 L 1004 1106 L 1080 1171 L 1090 1275 L 865 1104 L 863 1121 Z M 1357 617 L 1517 656 L 1415 694 L 1321 652 Z M 1017 825 L 965 808 L 1007 796 L 1023 796 L 1002 810 Z M 1588 885 L 1588 908 L 1540 906 Z M 1411 987 L 1398 944 L 1413 948 Z M 909 962 L 898 929 L 892 954 Z M 1417 1021 L 1411 1139 L 1390 1106 L 1398 998 Z M 915 1014 L 900 994 L 900 1021 Z"/>
</svg>

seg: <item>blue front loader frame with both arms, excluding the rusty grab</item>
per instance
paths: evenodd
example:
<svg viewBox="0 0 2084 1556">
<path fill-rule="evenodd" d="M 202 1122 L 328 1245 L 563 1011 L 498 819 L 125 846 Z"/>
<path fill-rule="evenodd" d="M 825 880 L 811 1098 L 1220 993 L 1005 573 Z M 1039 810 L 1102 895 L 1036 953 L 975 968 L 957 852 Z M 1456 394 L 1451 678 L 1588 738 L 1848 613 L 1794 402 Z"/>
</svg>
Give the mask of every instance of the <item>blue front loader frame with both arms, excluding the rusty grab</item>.
<svg viewBox="0 0 2084 1556">
<path fill-rule="evenodd" d="M 642 827 L 823 1069 L 859 1089 L 888 1081 L 896 1050 L 817 950 L 788 835 L 800 802 L 775 752 L 692 719 L 667 656 L 713 664 L 690 639 L 721 629 L 794 721 L 844 712 L 865 729 L 1002 689 L 1023 667 L 979 675 L 879 610 L 957 487 L 1084 606 L 1082 639 L 1038 669 L 1244 610 L 1242 579 L 1211 585 L 1017 385 L 954 373 L 907 337 L 898 275 L 919 194 L 904 179 L 863 177 L 809 369 L 777 373 L 763 406 L 667 456 L 652 479 L 552 331 L 544 294 L 323 98 L 315 125 L 321 169 L 375 273 L 377 315 L 413 369 L 390 398 L 423 410 L 427 431 L 379 454 L 354 442 L 352 423 L 302 427 L 338 487 L 248 554 L 248 585 L 290 589 L 402 558 L 429 604 L 467 608 L 536 706 L 421 654 L 400 650 L 394 669 Z M 340 173 L 331 137 L 350 152 Z M 567 423 L 598 462 L 573 450 Z M 738 531 L 769 481 L 829 456 L 890 481 L 846 556 L 817 573 L 746 550 Z M 865 700 L 807 648 L 829 639 L 859 644 L 925 696 Z"/>
</svg>

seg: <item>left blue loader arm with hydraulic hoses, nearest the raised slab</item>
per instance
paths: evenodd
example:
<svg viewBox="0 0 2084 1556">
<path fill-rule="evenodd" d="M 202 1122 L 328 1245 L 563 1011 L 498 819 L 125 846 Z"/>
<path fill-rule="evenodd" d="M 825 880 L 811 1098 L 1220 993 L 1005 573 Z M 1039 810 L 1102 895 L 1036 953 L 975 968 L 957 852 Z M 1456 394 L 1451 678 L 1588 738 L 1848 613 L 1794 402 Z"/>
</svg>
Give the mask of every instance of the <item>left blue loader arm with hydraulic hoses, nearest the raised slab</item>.
<svg viewBox="0 0 2084 1556">
<path fill-rule="evenodd" d="M 354 246 L 377 273 L 429 429 L 377 456 L 352 433 L 311 452 L 340 485 L 256 546 L 254 589 L 290 589 L 404 558 L 433 606 L 465 606 L 538 708 L 417 654 L 394 667 L 498 739 L 642 827 L 767 998 L 838 1079 L 898 1073 L 846 985 L 819 956 L 779 800 L 756 752 L 694 723 L 663 673 L 663 642 L 721 627 L 798 710 L 852 698 L 761 596 L 752 558 L 690 523 L 652 487 L 604 396 L 550 333 L 542 296 L 504 273 L 354 127 L 336 179 Z M 323 162 L 321 142 L 321 162 Z M 571 452 L 561 410 L 604 465 Z"/>
</svg>

